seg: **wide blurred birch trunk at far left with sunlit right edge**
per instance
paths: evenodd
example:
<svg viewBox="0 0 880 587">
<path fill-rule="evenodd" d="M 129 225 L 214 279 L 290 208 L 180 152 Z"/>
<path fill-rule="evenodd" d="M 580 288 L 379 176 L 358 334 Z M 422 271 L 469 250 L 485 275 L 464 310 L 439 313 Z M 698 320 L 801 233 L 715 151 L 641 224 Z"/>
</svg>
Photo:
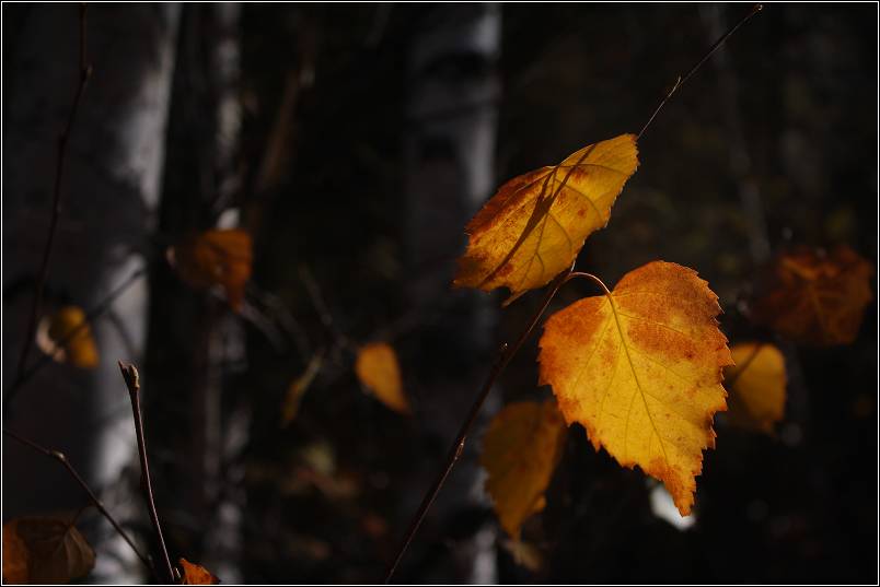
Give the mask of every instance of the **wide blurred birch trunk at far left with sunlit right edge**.
<svg viewBox="0 0 880 587">
<path fill-rule="evenodd" d="M 51 215 L 57 141 L 79 77 L 78 12 L 74 4 L 3 7 L 4 390 L 16 376 L 24 344 Z M 88 310 L 146 265 L 164 160 L 178 12 L 175 4 L 88 10 L 88 58 L 94 74 L 68 143 L 63 209 L 44 314 L 61 304 Z M 101 353 L 97 368 L 49 364 L 3 414 L 4 426 L 67 453 L 93 488 L 107 489 L 102 497 L 120 518 L 141 509 L 138 498 L 118 483 L 135 455 L 135 434 L 116 361 L 142 357 L 146 309 L 147 283 L 140 279 L 92 325 Z M 31 362 L 38 355 L 32 352 Z M 14 443 L 3 443 L 3 473 L 4 517 L 86 503 L 60 467 Z M 137 562 L 115 536 L 97 547 L 99 578 L 118 579 L 124 572 L 119 565 Z"/>
</svg>

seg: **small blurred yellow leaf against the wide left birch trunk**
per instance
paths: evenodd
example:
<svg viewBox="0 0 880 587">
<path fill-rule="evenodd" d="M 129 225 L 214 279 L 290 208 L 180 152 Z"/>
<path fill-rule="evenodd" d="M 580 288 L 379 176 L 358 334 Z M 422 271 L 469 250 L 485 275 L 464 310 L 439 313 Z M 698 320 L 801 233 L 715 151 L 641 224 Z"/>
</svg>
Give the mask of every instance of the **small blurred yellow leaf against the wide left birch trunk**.
<svg viewBox="0 0 880 587">
<path fill-rule="evenodd" d="M 92 330 L 78 306 L 65 306 L 44 317 L 37 326 L 36 345 L 59 363 L 80 368 L 95 368 L 99 363 Z"/>
</svg>

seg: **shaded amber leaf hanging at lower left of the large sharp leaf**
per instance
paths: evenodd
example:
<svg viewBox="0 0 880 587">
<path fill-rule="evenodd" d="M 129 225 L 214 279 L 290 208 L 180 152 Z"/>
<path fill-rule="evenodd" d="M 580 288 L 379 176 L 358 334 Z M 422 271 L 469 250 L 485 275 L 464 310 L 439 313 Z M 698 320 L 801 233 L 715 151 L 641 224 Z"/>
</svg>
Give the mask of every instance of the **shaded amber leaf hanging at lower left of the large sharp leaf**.
<svg viewBox="0 0 880 587">
<path fill-rule="evenodd" d="M 566 431 L 554 399 L 511 403 L 489 424 L 480 456 L 488 472 L 486 491 L 513 539 L 519 539 L 522 523 L 544 508 Z"/>
</svg>

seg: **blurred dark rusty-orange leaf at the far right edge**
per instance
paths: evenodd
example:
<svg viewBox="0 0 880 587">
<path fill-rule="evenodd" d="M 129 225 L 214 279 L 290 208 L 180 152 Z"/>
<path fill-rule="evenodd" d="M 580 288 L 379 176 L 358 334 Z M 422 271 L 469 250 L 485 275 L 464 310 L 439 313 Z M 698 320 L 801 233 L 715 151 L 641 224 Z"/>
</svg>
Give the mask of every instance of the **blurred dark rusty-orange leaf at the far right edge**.
<svg viewBox="0 0 880 587">
<path fill-rule="evenodd" d="M 848 344 L 873 298 L 872 274 L 870 263 L 846 246 L 831 255 L 811 249 L 781 255 L 752 317 L 797 343 Z"/>
</svg>

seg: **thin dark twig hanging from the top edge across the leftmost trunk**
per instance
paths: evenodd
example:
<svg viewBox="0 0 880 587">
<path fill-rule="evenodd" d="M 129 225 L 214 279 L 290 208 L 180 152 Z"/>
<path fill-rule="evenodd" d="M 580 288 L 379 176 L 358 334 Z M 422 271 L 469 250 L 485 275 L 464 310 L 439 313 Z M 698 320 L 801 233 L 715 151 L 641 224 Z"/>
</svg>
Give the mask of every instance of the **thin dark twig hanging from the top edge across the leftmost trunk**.
<svg viewBox="0 0 880 587">
<path fill-rule="evenodd" d="M 92 77 L 92 66 L 88 62 L 86 55 L 86 36 L 85 36 L 85 4 L 80 4 L 80 58 L 79 58 L 79 83 L 77 85 L 77 93 L 73 96 L 73 105 L 70 107 L 70 113 L 67 117 L 67 124 L 61 134 L 58 137 L 58 155 L 55 165 L 55 190 L 53 197 L 51 220 L 49 221 L 49 234 L 46 237 L 46 245 L 43 249 L 43 260 L 39 263 L 39 271 L 37 273 L 37 281 L 34 287 L 34 300 L 31 304 L 31 315 L 27 320 L 27 331 L 24 337 L 24 347 L 22 348 L 21 355 L 19 355 L 19 366 L 16 373 L 24 372 L 27 365 L 27 357 L 31 354 L 31 347 L 34 341 L 34 332 L 36 330 L 36 321 L 39 316 L 39 309 L 43 303 L 43 290 L 46 285 L 46 279 L 49 275 L 49 258 L 51 257 L 53 244 L 55 243 L 55 233 L 58 231 L 58 219 L 61 215 L 61 184 L 65 173 L 65 162 L 67 161 L 67 143 L 70 139 L 70 133 L 73 129 L 73 120 L 77 117 L 77 110 L 82 99 L 82 94 L 85 91 L 85 85 Z"/>
</svg>

